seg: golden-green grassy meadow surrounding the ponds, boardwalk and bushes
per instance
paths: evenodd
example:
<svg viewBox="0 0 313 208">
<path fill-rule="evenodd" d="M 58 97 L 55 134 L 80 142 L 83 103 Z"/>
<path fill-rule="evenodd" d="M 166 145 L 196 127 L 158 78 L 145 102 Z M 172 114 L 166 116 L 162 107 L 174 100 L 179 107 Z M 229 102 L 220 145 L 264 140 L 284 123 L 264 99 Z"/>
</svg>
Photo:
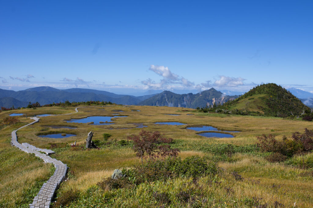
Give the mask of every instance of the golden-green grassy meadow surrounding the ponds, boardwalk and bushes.
<svg viewBox="0 0 313 208">
<path fill-rule="evenodd" d="M 242 103 L 244 105 L 244 103 Z M 312 153 L 295 155 L 285 162 L 270 163 L 267 153 L 259 151 L 257 136 L 274 134 L 282 139 L 293 132 L 313 129 L 313 122 L 274 117 L 255 117 L 199 113 L 195 109 L 155 106 L 79 106 L 42 107 L 3 111 L 0 121 L 8 114 L 56 114 L 41 117 L 36 124 L 18 130 L 18 142 L 27 142 L 39 148 L 54 150 L 51 157 L 69 167 L 68 179 L 57 191 L 58 199 L 66 205 L 55 207 L 313 207 Z M 140 111 L 137 111 L 140 110 Z M 123 112 L 119 112 L 123 111 Z M 72 114 L 69 114 L 72 113 Z M 68 115 L 65 115 L 68 114 Z M 111 125 L 67 123 L 69 119 L 88 116 L 112 116 Z M 167 115 L 179 114 L 179 115 Z M 20 123 L 2 125 L 0 133 L 0 208 L 28 207 L 41 185 L 54 172 L 51 164 L 44 164 L 33 155 L 24 153 L 10 144 L 12 130 L 32 122 L 25 115 L 17 116 Z M 155 122 L 181 122 L 185 125 L 160 125 Z M 137 123 L 147 127 L 135 128 Z M 189 126 L 208 125 L 224 131 L 240 131 L 233 138 L 206 138 Z M 51 126 L 71 126 L 76 129 L 54 129 Z M 179 157 L 199 155 L 216 163 L 219 172 L 197 178 L 177 177 L 141 183 L 134 189 L 103 190 L 97 183 L 109 177 L 113 170 L 140 165 L 127 136 L 142 129 L 159 131 L 173 139 L 172 147 L 180 149 Z M 100 149 L 86 150 L 87 134 L 94 132 Z M 68 138 L 45 138 L 39 134 L 76 134 Z M 102 134 L 112 136 L 103 141 Z M 120 142 L 125 140 L 126 142 Z M 76 147 L 70 144 L 76 141 Z M 309 165 L 299 166 L 306 161 Z M 187 196 L 182 197 L 182 193 Z M 66 201 L 66 200 L 65 200 Z"/>
</svg>

